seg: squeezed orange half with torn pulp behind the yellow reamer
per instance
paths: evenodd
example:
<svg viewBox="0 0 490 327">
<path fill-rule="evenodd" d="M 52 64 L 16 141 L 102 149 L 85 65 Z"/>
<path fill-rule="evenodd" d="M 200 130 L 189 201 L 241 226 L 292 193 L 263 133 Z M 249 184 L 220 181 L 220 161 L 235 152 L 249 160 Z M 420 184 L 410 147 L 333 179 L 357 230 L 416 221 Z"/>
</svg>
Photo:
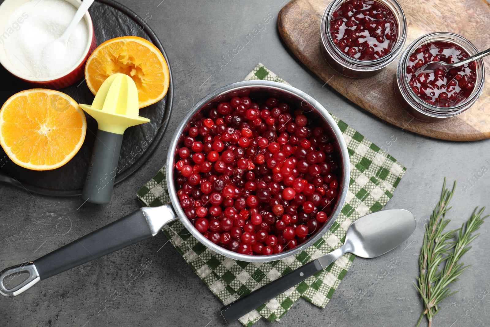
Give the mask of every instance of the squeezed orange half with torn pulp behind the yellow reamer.
<svg viewBox="0 0 490 327">
<path fill-rule="evenodd" d="M 94 95 L 105 79 L 116 73 L 134 80 L 140 108 L 160 101 L 169 89 L 169 67 L 162 52 L 138 36 L 105 41 L 87 59 L 85 80 Z"/>
</svg>

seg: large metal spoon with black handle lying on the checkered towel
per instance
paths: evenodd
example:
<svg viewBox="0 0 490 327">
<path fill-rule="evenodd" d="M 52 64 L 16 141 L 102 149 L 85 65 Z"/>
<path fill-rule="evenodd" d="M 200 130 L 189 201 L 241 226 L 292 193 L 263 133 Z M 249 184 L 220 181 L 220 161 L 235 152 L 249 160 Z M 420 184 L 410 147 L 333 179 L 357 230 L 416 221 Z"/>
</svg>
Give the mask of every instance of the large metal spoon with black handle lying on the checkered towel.
<svg viewBox="0 0 490 327">
<path fill-rule="evenodd" d="M 389 252 L 412 235 L 416 225 L 414 215 L 403 209 L 376 211 L 361 217 L 350 225 L 342 247 L 222 307 L 221 315 L 230 324 L 319 272 L 344 253 L 374 258 Z"/>
</svg>

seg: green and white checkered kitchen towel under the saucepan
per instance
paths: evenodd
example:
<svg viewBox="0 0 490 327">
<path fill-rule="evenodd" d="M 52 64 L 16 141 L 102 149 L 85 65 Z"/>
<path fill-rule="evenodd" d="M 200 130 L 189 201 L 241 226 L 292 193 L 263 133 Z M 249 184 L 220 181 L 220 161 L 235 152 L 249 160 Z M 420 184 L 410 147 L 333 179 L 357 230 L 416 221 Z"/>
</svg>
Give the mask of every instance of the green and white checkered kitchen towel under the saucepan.
<svg viewBox="0 0 490 327">
<path fill-rule="evenodd" d="M 286 83 L 260 63 L 245 77 L 245 80 L 258 79 Z M 262 263 L 243 262 L 207 249 L 179 221 L 163 228 L 163 232 L 173 246 L 223 304 L 229 304 L 281 275 L 341 247 L 347 228 L 353 221 L 370 212 L 383 209 L 392 198 L 393 191 L 406 168 L 352 127 L 335 116 L 333 118 L 343 133 L 349 151 L 349 192 L 336 222 L 310 248 L 284 260 Z M 137 195 L 148 206 L 158 206 L 170 201 L 165 181 L 165 166 Z M 315 276 L 309 277 L 242 317 L 240 322 L 245 326 L 251 326 L 261 316 L 271 322 L 278 320 L 300 297 L 325 307 L 347 273 L 354 257 L 350 253 L 344 254 Z"/>
</svg>

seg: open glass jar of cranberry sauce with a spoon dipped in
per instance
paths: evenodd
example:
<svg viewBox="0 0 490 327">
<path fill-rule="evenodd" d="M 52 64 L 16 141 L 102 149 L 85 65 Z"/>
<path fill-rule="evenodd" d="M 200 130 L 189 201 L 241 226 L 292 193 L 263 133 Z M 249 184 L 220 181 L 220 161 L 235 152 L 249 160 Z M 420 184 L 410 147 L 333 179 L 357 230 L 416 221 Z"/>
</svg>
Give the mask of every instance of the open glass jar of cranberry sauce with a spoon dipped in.
<svg viewBox="0 0 490 327">
<path fill-rule="evenodd" d="M 483 90 L 483 60 L 442 70 L 418 72 L 432 61 L 453 63 L 479 51 L 464 37 L 453 33 L 430 33 L 419 37 L 403 52 L 394 90 L 405 111 L 425 122 L 440 121 L 467 110 Z"/>
</svg>

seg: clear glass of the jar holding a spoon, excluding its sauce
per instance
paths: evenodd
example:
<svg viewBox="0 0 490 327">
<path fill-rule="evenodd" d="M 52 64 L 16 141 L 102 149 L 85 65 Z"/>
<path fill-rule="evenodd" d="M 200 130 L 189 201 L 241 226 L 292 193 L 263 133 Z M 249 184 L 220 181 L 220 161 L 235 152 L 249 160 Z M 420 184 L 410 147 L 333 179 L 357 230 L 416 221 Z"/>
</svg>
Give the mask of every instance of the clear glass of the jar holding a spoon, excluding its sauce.
<svg viewBox="0 0 490 327">
<path fill-rule="evenodd" d="M 476 62 L 476 81 L 471 94 L 466 100 L 451 106 L 451 107 L 439 107 L 429 104 L 417 97 L 409 84 L 409 80 L 406 74 L 407 64 L 410 60 L 410 55 L 421 45 L 432 42 L 448 42 L 453 43 L 465 50 L 468 55 L 472 56 L 479 51 L 475 48 L 471 42 L 464 37 L 445 32 L 430 33 L 419 37 L 412 42 L 405 51 L 398 62 L 398 68 L 396 69 L 396 76 L 393 82 L 396 99 L 400 102 L 400 105 L 407 111 L 412 117 L 425 122 L 436 122 L 444 118 L 456 116 L 475 103 L 480 94 L 483 91 L 483 85 L 485 82 L 485 68 L 483 66 L 483 60 L 478 59 Z"/>
</svg>

